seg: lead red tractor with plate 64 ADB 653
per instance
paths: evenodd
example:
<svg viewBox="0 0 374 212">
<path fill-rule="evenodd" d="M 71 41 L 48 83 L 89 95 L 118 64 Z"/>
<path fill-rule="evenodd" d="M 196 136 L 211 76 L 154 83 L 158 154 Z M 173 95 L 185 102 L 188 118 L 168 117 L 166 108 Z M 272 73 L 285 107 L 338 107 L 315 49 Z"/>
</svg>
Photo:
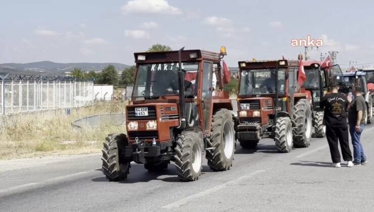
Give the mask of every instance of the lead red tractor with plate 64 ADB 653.
<svg viewBox="0 0 374 212">
<path fill-rule="evenodd" d="M 103 148 L 103 173 L 109 180 L 126 179 L 132 161 L 151 172 L 173 161 L 181 181 L 198 180 L 204 152 L 212 170 L 230 169 L 235 131 L 218 71 L 224 55 L 224 47 L 220 53 L 181 48 L 134 54 L 127 134 L 109 135 Z"/>
</svg>

